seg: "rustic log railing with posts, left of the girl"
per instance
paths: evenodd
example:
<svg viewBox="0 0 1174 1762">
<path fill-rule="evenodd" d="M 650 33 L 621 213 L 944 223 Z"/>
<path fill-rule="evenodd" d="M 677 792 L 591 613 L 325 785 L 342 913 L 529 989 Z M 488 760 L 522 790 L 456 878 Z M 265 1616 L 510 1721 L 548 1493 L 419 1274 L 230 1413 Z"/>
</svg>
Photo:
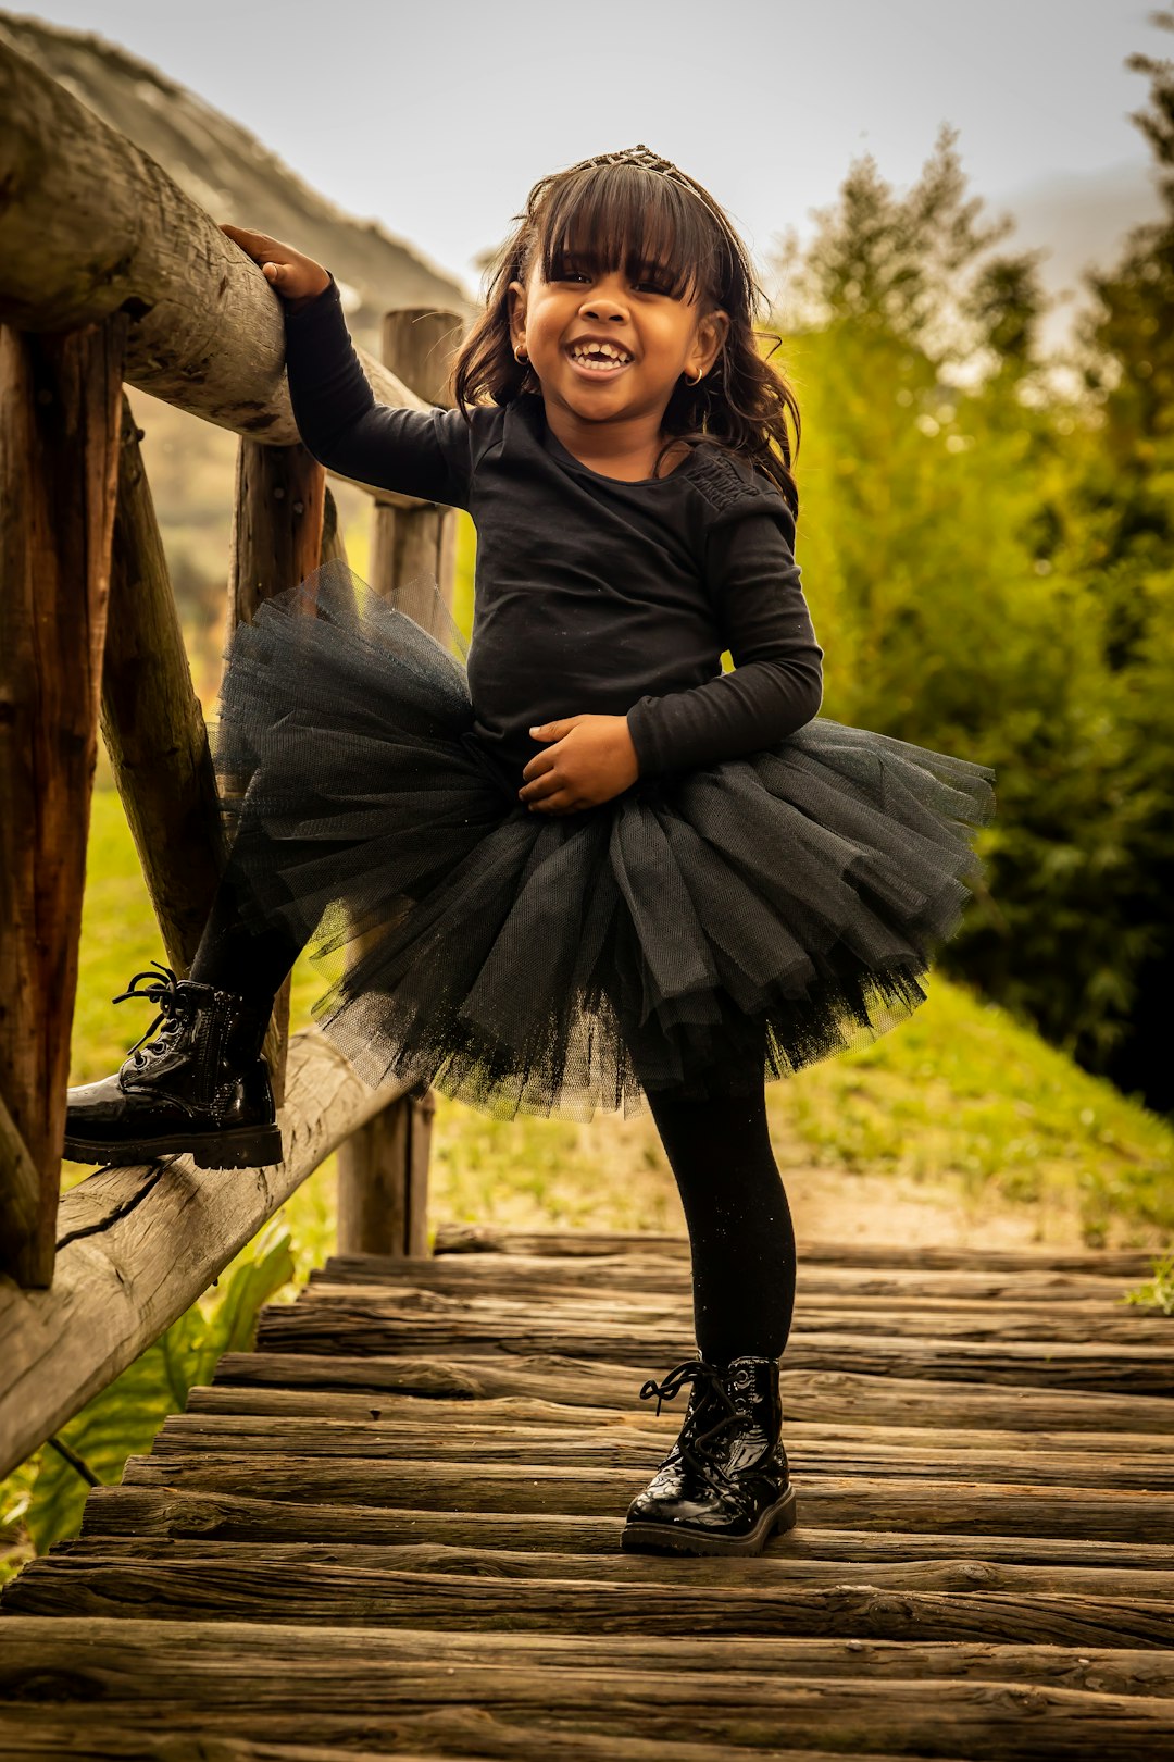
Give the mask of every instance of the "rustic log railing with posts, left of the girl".
<svg viewBox="0 0 1174 1762">
<path fill-rule="evenodd" d="M 225 858 L 123 382 L 239 439 L 229 622 L 345 555 L 297 439 L 260 270 L 134 143 L 0 42 L 0 1475 L 143 1351 L 340 1151 L 340 1247 L 422 1255 L 431 1096 L 373 1091 L 317 1029 L 266 1041 L 285 1161 L 107 1168 L 60 1195 L 102 731 L 169 964 Z M 377 396 L 440 402 L 459 317 L 391 312 Z M 394 368 L 394 372 L 391 370 Z M 452 515 L 375 497 L 370 578 L 451 599 Z M 435 627 L 435 604 L 400 604 Z M 444 634 L 437 631 L 437 634 Z"/>
</svg>

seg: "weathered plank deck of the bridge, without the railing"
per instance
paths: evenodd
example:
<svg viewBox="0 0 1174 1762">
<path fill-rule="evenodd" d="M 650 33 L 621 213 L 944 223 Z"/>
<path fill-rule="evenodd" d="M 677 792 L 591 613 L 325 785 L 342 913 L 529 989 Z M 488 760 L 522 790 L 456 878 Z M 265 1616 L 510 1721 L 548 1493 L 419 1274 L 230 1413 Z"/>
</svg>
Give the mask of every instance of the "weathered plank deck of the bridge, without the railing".
<svg viewBox="0 0 1174 1762">
<path fill-rule="evenodd" d="M 338 1256 L 0 1605 L 0 1757 L 1174 1751 L 1174 1360 L 1141 1256 L 806 1247 L 799 1524 L 625 1554 L 688 1355 L 657 1235 Z"/>
</svg>

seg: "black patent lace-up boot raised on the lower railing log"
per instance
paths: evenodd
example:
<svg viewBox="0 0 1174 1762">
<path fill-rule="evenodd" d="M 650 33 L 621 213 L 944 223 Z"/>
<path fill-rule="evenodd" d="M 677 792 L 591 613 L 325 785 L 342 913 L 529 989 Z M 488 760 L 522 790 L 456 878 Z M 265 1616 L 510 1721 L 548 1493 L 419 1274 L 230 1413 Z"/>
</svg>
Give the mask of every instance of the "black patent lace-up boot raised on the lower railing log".
<svg viewBox="0 0 1174 1762">
<path fill-rule="evenodd" d="M 187 1152 L 197 1168 L 280 1163 L 282 1129 L 260 1057 L 269 1011 L 151 966 L 158 973 L 136 973 L 114 1003 L 148 997 L 158 1015 L 116 1077 L 69 1091 L 65 1156 L 127 1165 Z M 151 983 L 137 988 L 139 980 Z"/>
</svg>

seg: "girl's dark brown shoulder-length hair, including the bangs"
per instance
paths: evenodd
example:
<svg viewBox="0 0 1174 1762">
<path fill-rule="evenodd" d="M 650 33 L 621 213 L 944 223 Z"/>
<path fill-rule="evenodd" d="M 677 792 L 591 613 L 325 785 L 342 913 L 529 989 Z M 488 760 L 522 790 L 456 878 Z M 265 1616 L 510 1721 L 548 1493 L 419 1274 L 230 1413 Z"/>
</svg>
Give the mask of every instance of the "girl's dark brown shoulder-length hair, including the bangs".
<svg viewBox="0 0 1174 1762">
<path fill-rule="evenodd" d="M 486 310 L 452 363 L 452 396 L 468 416 L 477 403 L 512 403 L 537 389 L 526 363 L 514 359 L 509 284 L 525 282 L 535 263 L 551 280 L 560 266 L 623 266 L 639 280 L 651 266 L 665 292 L 697 298 L 702 310 L 729 314 L 722 352 L 697 386 L 681 381 L 669 398 L 664 430 L 674 440 L 713 440 L 766 472 L 799 511 L 787 419 L 799 451 L 799 403 L 792 388 L 757 349 L 755 317 L 766 308 L 750 255 L 713 197 L 648 148 L 600 155 L 540 178 L 525 211 L 488 270 Z M 771 335 L 771 333 L 766 333 Z M 774 347 L 780 338 L 773 337 Z M 657 460 L 660 463 L 660 458 Z"/>
</svg>

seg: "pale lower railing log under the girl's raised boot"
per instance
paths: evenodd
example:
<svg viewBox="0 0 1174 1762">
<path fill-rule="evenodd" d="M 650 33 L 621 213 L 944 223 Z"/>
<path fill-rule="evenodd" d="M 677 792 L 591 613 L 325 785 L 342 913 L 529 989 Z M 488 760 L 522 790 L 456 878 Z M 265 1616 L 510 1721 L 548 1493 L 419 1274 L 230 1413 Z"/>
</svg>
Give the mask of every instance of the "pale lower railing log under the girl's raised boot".
<svg viewBox="0 0 1174 1762">
<path fill-rule="evenodd" d="M 118 1376 L 326 1161 L 401 1091 L 368 1089 L 317 1027 L 289 1048 L 285 1161 L 107 1168 L 62 1196 L 53 1286 L 0 1277 L 0 1478 Z"/>
</svg>

